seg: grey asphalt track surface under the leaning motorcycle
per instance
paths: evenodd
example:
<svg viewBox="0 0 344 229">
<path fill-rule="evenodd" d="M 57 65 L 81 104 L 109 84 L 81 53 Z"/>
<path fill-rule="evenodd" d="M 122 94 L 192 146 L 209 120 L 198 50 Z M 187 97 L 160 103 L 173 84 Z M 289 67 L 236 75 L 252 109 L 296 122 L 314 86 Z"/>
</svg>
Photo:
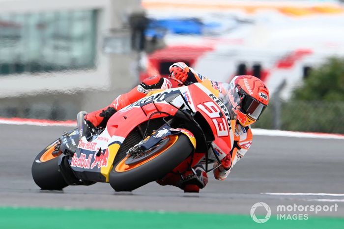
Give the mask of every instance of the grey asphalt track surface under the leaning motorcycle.
<svg viewBox="0 0 344 229">
<path fill-rule="evenodd" d="M 225 181 L 209 174 L 200 194 L 184 194 L 172 186 L 150 183 L 132 193 L 115 193 L 109 184 L 70 186 L 41 191 L 31 177 L 36 154 L 71 127 L 0 124 L 0 206 L 66 207 L 143 211 L 250 214 L 265 202 L 277 205 L 338 204 L 336 212 L 317 216 L 344 217 L 344 140 L 255 136 L 245 157 Z M 324 193 L 268 195 L 264 193 Z M 310 212 L 310 215 L 315 215 Z"/>
</svg>

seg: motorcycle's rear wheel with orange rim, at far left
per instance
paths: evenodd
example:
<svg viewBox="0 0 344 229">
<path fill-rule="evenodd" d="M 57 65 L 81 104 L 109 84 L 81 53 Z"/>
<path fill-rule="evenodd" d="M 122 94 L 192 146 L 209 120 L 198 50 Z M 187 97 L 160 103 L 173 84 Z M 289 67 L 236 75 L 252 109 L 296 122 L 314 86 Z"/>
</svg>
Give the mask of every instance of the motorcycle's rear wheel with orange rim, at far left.
<svg viewBox="0 0 344 229">
<path fill-rule="evenodd" d="M 59 154 L 53 154 L 56 145 L 57 141 L 43 149 L 32 164 L 32 178 L 41 189 L 60 190 L 68 186 L 59 170 Z"/>
</svg>

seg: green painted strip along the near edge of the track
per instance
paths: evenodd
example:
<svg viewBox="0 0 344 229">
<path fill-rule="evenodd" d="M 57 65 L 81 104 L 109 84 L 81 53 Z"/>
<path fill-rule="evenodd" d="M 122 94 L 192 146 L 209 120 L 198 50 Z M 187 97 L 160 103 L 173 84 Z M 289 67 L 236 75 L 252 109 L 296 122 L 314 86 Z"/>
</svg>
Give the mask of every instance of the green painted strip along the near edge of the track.
<svg viewBox="0 0 344 229">
<path fill-rule="evenodd" d="M 314 217 L 264 224 L 249 215 L 0 207 L 0 229 L 344 229 L 344 218 Z"/>
</svg>

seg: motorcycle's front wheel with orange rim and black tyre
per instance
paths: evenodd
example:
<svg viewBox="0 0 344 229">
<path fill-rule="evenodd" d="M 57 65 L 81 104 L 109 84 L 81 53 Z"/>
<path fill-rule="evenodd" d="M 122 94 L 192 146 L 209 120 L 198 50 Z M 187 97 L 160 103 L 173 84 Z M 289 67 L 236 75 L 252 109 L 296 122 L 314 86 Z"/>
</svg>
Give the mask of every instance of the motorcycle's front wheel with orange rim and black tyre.
<svg viewBox="0 0 344 229">
<path fill-rule="evenodd" d="M 127 156 L 110 172 L 109 182 L 115 191 L 132 191 L 164 177 L 194 150 L 184 134 L 170 135 L 143 155 Z"/>
</svg>

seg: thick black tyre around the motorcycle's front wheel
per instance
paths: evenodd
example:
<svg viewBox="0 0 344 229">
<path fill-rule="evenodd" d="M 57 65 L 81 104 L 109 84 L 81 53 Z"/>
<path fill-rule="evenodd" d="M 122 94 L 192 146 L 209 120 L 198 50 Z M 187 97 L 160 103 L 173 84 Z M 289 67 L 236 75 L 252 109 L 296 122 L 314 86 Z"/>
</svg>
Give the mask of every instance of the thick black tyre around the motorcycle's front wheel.
<svg viewBox="0 0 344 229">
<path fill-rule="evenodd" d="M 177 140 L 172 145 L 161 150 L 156 157 L 146 159 L 139 166 L 135 164 L 132 168 L 120 172 L 118 171 L 119 164 L 123 165 L 127 157 L 121 159 L 109 174 L 111 187 L 115 191 L 132 191 L 171 172 L 194 150 L 192 143 L 184 134 L 176 137 Z"/>
</svg>

